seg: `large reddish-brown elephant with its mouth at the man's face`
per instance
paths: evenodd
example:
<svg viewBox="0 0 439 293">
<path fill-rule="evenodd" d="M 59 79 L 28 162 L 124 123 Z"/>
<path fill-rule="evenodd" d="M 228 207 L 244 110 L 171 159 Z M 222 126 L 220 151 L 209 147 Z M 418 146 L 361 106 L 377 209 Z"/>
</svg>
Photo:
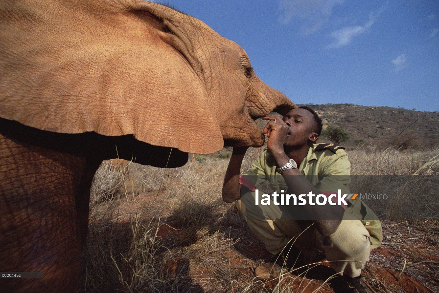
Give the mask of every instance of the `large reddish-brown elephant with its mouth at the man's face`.
<svg viewBox="0 0 439 293">
<path fill-rule="evenodd" d="M 103 160 L 180 167 L 262 146 L 294 105 L 202 21 L 143 0 L 0 4 L 0 271 L 5 292 L 74 292 Z"/>
</svg>

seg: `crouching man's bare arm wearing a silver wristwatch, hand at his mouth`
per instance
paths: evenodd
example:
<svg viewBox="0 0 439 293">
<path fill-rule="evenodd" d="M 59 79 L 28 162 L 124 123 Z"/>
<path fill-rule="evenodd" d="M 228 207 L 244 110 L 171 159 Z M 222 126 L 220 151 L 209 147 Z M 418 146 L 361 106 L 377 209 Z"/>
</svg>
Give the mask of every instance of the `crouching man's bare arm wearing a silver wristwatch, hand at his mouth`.
<svg viewBox="0 0 439 293">
<path fill-rule="evenodd" d="M 271 119 L 270 119 L 271 120 Z M 284 166 L 289 158 L 283 149 L 283 143 L 288 134 L 288 126 L 281 120 L 277 119 L 277 123 L 270 122 L 265 126 L 264 133 L 269 137 L 267 148 L 273 155 L 278 167 Z M 282 177 L 288 186 L 288 191 L 293 194 L 308 194 L 312 191 L 314 194 L 320 194 L 311 183 L 306 180 L 299 169 L 289 169 L 282 173 Z M 330 235 L 334 233 L 340 225 L 345 209 L 341 206 L 332 205 L 304 205 L 304 206 L 290 206 L 290 209 L 296 209 L 299 212 L 304 211 L 307 215 L 313 215 L 312 220 L 316 225 L 316 229 L 323 235 Z M 334 219 L 334 220 L 328 220 Z"/>
</svg>

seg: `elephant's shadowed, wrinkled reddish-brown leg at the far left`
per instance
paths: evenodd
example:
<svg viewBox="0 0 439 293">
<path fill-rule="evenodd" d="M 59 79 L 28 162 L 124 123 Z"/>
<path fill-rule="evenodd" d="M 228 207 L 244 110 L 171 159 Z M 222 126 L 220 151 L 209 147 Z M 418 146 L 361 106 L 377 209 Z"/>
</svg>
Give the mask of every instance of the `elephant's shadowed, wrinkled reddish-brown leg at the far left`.
<svg viewBox="0 0 439 293">
<path fill-rule="evenodd" d="M 86 160 L 0 134 L 0 162 L 1 271 L 44 273 L 43 279 L 0 279 L 1 290 L 75 292 L 88 217 L 88 199 L 78 212 L 75 194 Z"/>
</svg>

